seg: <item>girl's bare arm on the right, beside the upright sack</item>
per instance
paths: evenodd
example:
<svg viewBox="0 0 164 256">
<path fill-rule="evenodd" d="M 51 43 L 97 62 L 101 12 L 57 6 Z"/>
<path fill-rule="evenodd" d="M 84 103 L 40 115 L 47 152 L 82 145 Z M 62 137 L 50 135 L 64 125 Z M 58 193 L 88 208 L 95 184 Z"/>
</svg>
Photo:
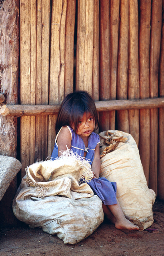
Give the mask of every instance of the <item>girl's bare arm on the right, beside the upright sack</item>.
<svg viewBox="0 0 164 256">
<path fill-rule="evenodd" d="M 97 144 L 96 148 L 95 148 L 95 156 L 92 162 L 92 171 L 94 174 L 93 178 L 99 178 L 99 174 L 100 174 L 100 166 L 101 166 L 101 161 L 100 161 L 100 146 L 99 144 Z"/>
</svg>

